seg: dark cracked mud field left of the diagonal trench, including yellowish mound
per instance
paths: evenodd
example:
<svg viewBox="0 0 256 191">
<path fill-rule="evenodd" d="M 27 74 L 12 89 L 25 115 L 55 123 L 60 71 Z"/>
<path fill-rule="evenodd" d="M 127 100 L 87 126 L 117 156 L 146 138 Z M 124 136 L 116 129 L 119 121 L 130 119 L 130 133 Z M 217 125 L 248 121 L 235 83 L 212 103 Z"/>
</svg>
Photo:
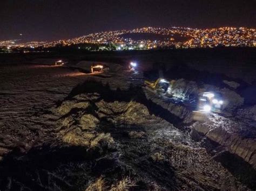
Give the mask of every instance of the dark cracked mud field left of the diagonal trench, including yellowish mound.
<svg viewBox="0 0 256 191">
<path fill-rule="evenodd" d="M 218 162 L 207 140 L 156 112 L 129 76 L 1 67 L 1 190 L 85 190 L 100 177 L 105 189 L 127 177 L 131 190 L 255 186 Z"/>
</svg>

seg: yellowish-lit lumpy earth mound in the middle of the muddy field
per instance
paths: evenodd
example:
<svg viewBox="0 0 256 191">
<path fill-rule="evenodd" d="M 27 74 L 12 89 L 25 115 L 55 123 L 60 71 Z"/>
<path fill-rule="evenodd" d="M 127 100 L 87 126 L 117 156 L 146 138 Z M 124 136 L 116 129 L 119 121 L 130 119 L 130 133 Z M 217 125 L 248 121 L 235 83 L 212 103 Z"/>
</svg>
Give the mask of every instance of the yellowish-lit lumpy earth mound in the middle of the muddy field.
<svg viewBox="0 0 256 191">
<path fill-rule="evenodd" d="M 102 142 L 113 143 L 110 133 L 97 132 L 105 118 L 114 125 L 131 125 L 135 121 L 137 124 L 144 123 L 143 116 L 149 116 L 146 107 L 139 103 L 105 102 L 99 94 L 79 94 L 51 111 L 54 115 L 62 116 L 58 120 L 61 129 L 58 137 L 69 145 L 88 148 L 99 146 Z"/>
</svg>

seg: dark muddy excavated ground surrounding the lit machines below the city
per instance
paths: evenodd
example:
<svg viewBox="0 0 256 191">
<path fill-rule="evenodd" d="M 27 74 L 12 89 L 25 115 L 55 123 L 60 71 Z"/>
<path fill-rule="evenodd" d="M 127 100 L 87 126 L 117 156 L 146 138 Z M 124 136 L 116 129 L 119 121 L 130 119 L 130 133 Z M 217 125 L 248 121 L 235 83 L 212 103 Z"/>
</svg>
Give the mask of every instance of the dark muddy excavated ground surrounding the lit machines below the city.
<svg viewBox="0 0 256 191">
<path fill-rule="evenodd" d="M 250 51 L 242 51 L 250 61 L 241 61 L 253 70 Z M 222 59 L 221 52 L 209 54 Z M 255 190 L 253 77 L 202 72 L 179 64 L 182 59 L 163 65 L 169 55 L 156 55 L 102 54 L 99 60 L 145 65 L 139 73 L 108 75 L 74 70 L 81 55 L 73 55 L 72 68 L 2 57 L 0 190 Z M 199 120 L 187 104 L 144 89 L 144 78 L 156 79 L 156 66 L 177 80 L 184 99 L 199 89 L 223 94 L 229 102 L 224 112 Z"/>
</svg>

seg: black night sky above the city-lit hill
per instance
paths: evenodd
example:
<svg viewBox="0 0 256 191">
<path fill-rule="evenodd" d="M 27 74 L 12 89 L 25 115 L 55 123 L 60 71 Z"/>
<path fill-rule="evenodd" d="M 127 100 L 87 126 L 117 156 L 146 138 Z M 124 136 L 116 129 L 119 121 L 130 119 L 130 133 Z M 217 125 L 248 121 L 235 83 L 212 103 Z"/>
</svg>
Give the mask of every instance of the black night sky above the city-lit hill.
<svg viewBox="0 0 256 191">
<path fill-rule="evenodd" d="M 0 39 L 54 40 L 143 26 L 256 27 L 256 0 L 0 0 Z"/>
</svg>

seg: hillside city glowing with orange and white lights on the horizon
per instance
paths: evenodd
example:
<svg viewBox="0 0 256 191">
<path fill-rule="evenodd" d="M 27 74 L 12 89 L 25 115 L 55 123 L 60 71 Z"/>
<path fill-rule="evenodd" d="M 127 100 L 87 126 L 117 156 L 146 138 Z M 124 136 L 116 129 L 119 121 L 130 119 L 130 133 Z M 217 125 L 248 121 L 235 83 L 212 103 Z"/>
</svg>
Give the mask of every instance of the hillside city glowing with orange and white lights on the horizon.
<svg viewBox="0 0 256 191">
<path fill-rule="evenodd" d="M 161 40 L 140 39 L 134 40 L 124 38 L 123 34 L 131 33 L 151 33 L 168 38 Z M 23 34 L 20 33 L 20 36 Z M 178 40 L 177 37 L 184 38 Z M 216 29 L 192 29 L 188 27 L 171 27 L 169 29 L 160 27 L 143 27 L 133 30 L 107 31 L 92 33 L 83 37 L 58 40 L 47 43 L 45 41 L 33 41 L 28 43 L 18 43 L 18 40 L 0 41 L 0 47 L 11 48 L 37 48 L 37 47 L 55 47 L 71 46 L 77 44 L 95 44 L 99 45 L 99 49 L 95 50 L 133 50 L 133 49 L 152 49 L 152 48 L 206 48 L 206 47 L 255 47 L 256 46 L 256 30 L 246 27 L 220 27 Z M 107 45 L 113 46 L 107 46 Z M 77 47 L 80 49 L 80 47 Z M 93 50 L 88 47 L 88 50 Z"/>
</svg>

